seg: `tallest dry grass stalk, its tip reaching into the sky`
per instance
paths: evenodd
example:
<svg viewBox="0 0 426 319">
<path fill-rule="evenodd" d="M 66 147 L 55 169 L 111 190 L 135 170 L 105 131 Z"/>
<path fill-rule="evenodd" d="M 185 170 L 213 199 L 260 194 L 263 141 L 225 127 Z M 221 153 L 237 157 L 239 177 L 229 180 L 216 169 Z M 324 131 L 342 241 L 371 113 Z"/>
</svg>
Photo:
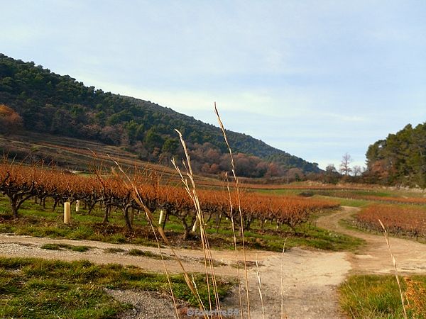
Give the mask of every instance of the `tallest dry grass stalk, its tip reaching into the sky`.
<svg viewBox="0 0 426 319">
<path fill-rule="evenodd" d="M 238 177 L 236 177 L 234 157 L 232 156 L 232 150 L 231 150 L 231 147 L 229 146 L 228 138 L 226 137 L 224 124 L 222 123 L 222 119 L 219 116 L 219 111 L 217 111 L 216 102 L 214 102 L 214 113 L 216 113 L 217 121 L 219 122 L 219 127 L 222 130 L 222 134 L 224 135 L 226 146 L 228 147 L 229 156 L 231 157 L 232 174 L 234 175 L 235 191 L 236 191 L 239 218 L 240 218 L 240 224 L 241 224 L 240 229 L 241 229 L 241 240 L 242 240 L 242 249 L 243 249 L 243 257 L 244 257 L 244 277 L 246 279 L 247 315 L 248 315 L 248 318 L 250 319 L 251 315 L 250 315 L 250 298 L 249 298 L 249 275 L 247 270 L 246 246 L 244 241 L 244 223 L 243 223 L 243 213 L 241 212 L 241 196 L 240 196 L 240 189 L 239 189 L 239 180 L 238 180 Z M 242 317 L 242 313 L 241 313 L 241 317 Z"/>
</svg>

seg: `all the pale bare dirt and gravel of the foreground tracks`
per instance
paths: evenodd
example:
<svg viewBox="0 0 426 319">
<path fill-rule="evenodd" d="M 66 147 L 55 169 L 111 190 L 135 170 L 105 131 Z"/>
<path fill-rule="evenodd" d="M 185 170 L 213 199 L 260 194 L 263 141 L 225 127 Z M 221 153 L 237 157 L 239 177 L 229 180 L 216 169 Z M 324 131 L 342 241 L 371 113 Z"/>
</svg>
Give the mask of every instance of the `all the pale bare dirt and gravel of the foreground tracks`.
<svg viewBox="0 0 426 319">
<path fill-rule="evenodd" d="M 366 240 L 366 245 L 354 254 L 350 252 L 322 252 L 293 248 L 285 254 L 250 250 L 246 259 L 253 264 L 258 260 L 261 276 L 261 291 L 265 318 L 281 318 L 281 291 L 283 291 L 283 310 L 286 318 L 344 318 L 339 313 L 337 286 L 349 273 L 391 273 L 393 266 L 383 236 L 347 230 L 339 225 L 339 220 L 349 218 L 357 208 L 344 207 L 330 216 L 317 221 L 322 228 L 345 233 Z M 45 243 L 66 243 L 94 247 L 88 252 L 70 250 L 43 250 Z M 155 247 L 139 245 L 114 245 L 85 240 L 53 240 L 27 236 L 0 235 L 0 256 L 41 257 L 46 259 L 77 260 L 87 259 L 98 264 L 134 265 L 152 272 L 164 272 L 163 262 L 148 257 L 133 257 L 125 252 L 106 253 L 106 248 L 151 251 L 158 254 Z M 426 273 L 426 245 L 411 240 L 391 238 L 391 249 L 398 262 L 398 269 L 406 273 Z M 176 250 L 187 272 L 203 272 L 204 254 L 202 250 Z M 172 256 L 170 249 L 163 249 L 165 256 Z M 214 250 L 215 261 L 220 264 L 215 273 L 220 276 L 236 277 L 235 254 L 231 250 Z M 242 253 L 239 252 L 239 260 Z M 173 259 L 165 260 L 169 272 L 178 273 L 182 269 Z M 283 271 L 283 281 L 281 280 Z M 241 281 L 243 273 L 240 273 Z M 282 284 L 283 282 L 283 284 Z M 122 318 L 173 318 L 173 304 L 165 296 L 137 291 L 109 291 L 114 298 L 132 303 L 135 307 Z M 243 291 L 245 296 L 245 291 Z M 238 289 L 222 302 L 223 310 L 239 309 Z M 262 303 L 258 291 L 256 267 L 249 269 L 249 296 L 251 318 L 262 318 Z M 167 302 L 168 306 L 165 306 Z M 155 304 L 158 303 L 158 304 Z M 246 303 L 246 302 L 244 302 Z M 170 308 L 171 307 L 171 308 Z M 156 309 L 156 311 L 155 311 Z M 161 309 L 161 310 L 159 310 Z M 244 306 L 244 317 L 247 309 Z M 192 317 L 195 318 L 195 317 Z"/>
</svg>

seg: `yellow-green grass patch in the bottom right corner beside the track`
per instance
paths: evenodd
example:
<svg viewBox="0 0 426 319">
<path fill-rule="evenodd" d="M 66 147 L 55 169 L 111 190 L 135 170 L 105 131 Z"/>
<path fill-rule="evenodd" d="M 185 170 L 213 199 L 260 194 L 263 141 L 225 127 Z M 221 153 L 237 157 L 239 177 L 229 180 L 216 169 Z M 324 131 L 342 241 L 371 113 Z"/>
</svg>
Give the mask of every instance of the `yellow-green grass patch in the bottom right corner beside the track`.
<svg viewBox="0 0 426 319">
<path fill-rule="evenodd" d="M 426 290 L 422 290 L 426 289 L 426 276 L 410 279 L 415 285 L 400 278 L 408 297 L 408 318 L 426 318 Z M 392 275 L 349 276 L 339 286 L 339 303 L 351 318 L 403 318 L 398 284 Z"/>
</svg>

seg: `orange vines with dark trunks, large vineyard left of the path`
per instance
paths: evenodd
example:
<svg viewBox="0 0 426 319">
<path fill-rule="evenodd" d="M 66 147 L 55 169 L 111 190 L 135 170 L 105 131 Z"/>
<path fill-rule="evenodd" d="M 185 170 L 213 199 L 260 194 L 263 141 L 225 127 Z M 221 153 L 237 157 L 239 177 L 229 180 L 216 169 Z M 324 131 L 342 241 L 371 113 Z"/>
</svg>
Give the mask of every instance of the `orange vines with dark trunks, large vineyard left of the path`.
<svg viewBox="0 0 426 319">
<path fill-rule="evenodd" d="M 109 223 L 112 209 L 121 211 L 126 227 L 131 230 L 133 217 L 143 211 L 135 196 L 138 194 L 151 212 L 163 212 L 163 228 L 169 217 L 174 216 L 182 225 L 184 239 L 193 228 L 195 230 L 197 214 L 185 189 L 161 184 L 160 177 L 155 173 L 135 172 L 130 180 L 124 178 L 119 174 L 97 172 L 85 177 L 55 169 L 0 165 L 0 191 L 9 199 L 13 218 L 19 218 L 19 209 L 30 199 L 43 208 L 46 208 L 46 201 L 52 202 L 53 210 L 67 201 L 80 201 L 89 214 L 95 206 L 102 209 L 104 223 Z M 235 191 L 229 194 L 225 190 L 201 189 L 198 196 L 204 220 L 207 222 L 214 217 L 217 228 L 224 219 L 234 220 L 236 228 L 241 224 L 236 209 L 238 205 Z M 250 230 L 255 220 L 261 225 L 262 231 L 267 221 L 276 223 L 276 230 L 280 230 L 281 225 L 295 230 L 295 227 L 306 222 L 313 212 L 337 207 L 337 203 L 333 201 L 297 196 L 267 196 L 249 191 L 241 191 L 240 198 L 245 230 Z"/>
</svg>

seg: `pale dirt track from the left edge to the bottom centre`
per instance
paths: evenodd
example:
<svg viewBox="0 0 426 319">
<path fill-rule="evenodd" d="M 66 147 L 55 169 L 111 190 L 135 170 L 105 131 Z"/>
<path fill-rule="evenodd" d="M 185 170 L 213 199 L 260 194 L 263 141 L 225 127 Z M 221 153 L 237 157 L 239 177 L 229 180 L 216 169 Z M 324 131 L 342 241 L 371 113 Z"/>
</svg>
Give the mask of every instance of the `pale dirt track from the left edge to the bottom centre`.
<svg viewBox="0 0 426 319">
<path fill-rule="evenodd" d="M 87 252 L 72 252 L 70 250 L 58 251 L 40 248 L 46 243 L 85 245 L 92 247 L 92 249 Z M 105 249 L 107 248 L 121 248 L 125 252 L 106 253 Z M 0 256 L 4 257 L 41 257 L 67 261 L 87 259 L 98 264 L 135 265 L 148 271 L 164 272 L 163 264 L 158 259 L 134 257 L 126 254 L 133 248 L 158 254 L 158 249 L 154 247 L 138 245 L 114 245 L 86 240 L 53 240 L 50 238 L 0 235 Z M 163 252 L 166 256 L 171 256 L 169 249 L 164 249 Z M 177 252 L 188 272 L 204 272 L 201 250 L 180 249 Z M 214 250 L 212 254 L 217 264 L 220 264 L 215 268 L 216 274 L 236 277 L 236 268 L 231 266 L 235 264 L 234 251 Z M 294 248 L 282 255 L 276 252 L 250 250 L 246 252 L 246 258 L 252 265 L 256 259 L 258 260 L 266 318 L 280 318 L 281 315 L 281 264 L 283 264 L 283 308 L 288 318 L 340 318 L 334 289 L 350 269 L 345 252 L 319 252 Z M 241 253 L 239 259 L 242 259 Z M 181 272 L 178 263 L 173 259 L 168 259 L 165 262 L 170 272 Z M 330 265 L 333 265 L 333 267 L 330 267 Z M 249 268 L 248 276 L 251 318 L 262 318 L 256 267 Z M 130 299 L 134 298 L 134 293 L 129 292 L 127 296 Z M 222 308 L 226 310 L 239 309 L 237 291 L 223 302 Z M 131 315 L 123 318 L 148 317 L 135 314 L 133 311 Z M 165 318 L 164 314 L 158 314 L 158 318 Z"/>
</svg>

